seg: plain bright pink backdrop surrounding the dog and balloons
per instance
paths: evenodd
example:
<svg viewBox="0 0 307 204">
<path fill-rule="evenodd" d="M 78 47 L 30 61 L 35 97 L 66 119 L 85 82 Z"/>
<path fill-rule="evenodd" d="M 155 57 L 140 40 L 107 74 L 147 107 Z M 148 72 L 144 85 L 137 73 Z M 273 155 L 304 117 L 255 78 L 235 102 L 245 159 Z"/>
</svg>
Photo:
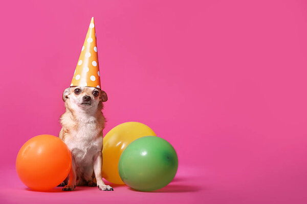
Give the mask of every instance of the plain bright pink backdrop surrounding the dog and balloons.
<svg viewBox="0 0 307 204">
<path fill-rule="evenodd" d="M 58 134 L 92 16 L 105 133 L 143 122 L 178 152 L 159 195 L 33 192 L 14 171 L 28 139 Z M 306 202 L 305 1 L 6 1 L 0 17 L 0 201 Z"/>
</svg>

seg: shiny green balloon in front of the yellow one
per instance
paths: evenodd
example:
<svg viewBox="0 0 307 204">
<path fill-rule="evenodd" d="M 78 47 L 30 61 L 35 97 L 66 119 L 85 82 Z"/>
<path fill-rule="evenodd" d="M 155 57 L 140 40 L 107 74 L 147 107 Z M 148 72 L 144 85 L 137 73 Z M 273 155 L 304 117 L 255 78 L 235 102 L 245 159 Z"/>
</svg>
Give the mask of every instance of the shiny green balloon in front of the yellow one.
<svg viewBox="0 0 307 204">
<path fill-rule="evenodd" d="M 123 151 L 118 171 L 123 182 L 139 191 L 154 191 L 169 184 L 178 169 L 175 149 L 166 140 L 146 136 Z"/>
</svg>

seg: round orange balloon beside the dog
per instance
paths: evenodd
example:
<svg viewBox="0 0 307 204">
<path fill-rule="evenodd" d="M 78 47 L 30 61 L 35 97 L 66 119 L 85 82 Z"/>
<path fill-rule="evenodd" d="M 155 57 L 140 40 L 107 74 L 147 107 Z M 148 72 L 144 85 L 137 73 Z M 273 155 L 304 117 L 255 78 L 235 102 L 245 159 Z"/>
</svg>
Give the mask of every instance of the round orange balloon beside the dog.
<svg viewBox="0 0 307 204">
<path fill-rule="evenodd" d="M 53 135 L 38 135 L 20 148 L 16 171 L 26 186 L 44 191 L 62 183 L 71 164 L 71 152 L 61 139 Z"/>
</svg>

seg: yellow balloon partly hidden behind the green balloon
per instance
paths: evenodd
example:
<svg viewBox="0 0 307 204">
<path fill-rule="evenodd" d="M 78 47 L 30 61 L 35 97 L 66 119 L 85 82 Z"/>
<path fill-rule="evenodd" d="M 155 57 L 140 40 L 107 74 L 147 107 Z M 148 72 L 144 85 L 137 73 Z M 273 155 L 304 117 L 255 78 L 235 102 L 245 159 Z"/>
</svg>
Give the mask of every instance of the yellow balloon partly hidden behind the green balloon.
<svg viewBox="0 0 307 204">
<path fill-rule="evenodd" d="M 124 122 L 109 131 L 103 138 L 102 176 L 113 184 L 124 184 L 118 172 L 122 152 L 134 140 L 144 136 L 157 136 L 150 127 L 140 122 Z"/>
</svg>

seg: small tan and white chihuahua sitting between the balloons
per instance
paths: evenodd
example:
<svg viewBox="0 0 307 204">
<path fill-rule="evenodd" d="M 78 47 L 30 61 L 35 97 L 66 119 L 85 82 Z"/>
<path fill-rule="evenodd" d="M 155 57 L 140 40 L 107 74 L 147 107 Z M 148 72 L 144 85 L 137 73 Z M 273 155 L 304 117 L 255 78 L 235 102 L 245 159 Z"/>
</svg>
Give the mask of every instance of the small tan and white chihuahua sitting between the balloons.
<svg viewBox="0 0 307 204">
<path fill-rule="evenodd" d="M 66 112 L 61 116 L 59 138 L 72 154 L 69 176 L 60 184 L 63 191 L 76 186 L 98 186 L 99 190 L 113 191 L 102 181 L 102 130 L 105 118 L 102 102 L 107 100 L 104 91 L 95 87 L 69 87 L 63 92 Z"/>
</svg>

